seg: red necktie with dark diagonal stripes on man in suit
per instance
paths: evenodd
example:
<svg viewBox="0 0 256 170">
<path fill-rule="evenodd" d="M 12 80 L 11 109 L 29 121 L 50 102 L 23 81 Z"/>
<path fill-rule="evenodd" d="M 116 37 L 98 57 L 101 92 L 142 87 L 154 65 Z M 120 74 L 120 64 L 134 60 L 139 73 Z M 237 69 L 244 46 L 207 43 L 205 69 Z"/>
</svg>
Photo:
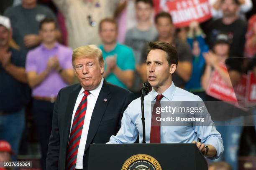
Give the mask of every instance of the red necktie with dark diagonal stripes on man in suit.
<svg viewBox="0 0 256 170">
<path fill-rule="evenodd" d="M 82 98 L 77 111 L 74 115 L 73 124 L 69 136 L 69 145 L 67 150 L 66 169 L 74 170 L 77 163 L 77 152 L 82 135 L 84 117 L 87 109 L 87 96 L 90 95 L 89 91 L 84 91 L 84 97 Z"/>
</svg>

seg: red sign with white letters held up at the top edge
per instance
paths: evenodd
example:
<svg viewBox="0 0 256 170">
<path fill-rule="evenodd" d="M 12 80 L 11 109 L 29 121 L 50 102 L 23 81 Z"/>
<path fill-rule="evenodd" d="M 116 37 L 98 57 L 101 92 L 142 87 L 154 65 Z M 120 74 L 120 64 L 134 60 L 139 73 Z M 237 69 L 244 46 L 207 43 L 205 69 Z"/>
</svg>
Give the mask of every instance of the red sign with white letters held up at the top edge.
<svg viewBox="0 0 256 170">
<path fill-rule="evenodd" d="M 164 0 L 165 9 L 172 15 L 176 27 L 187 27 L 191 21 L 199 23 L 212 17 L 208 0 Z M 167 7 L 167 8 L 166 8 Z"/>
</svg>

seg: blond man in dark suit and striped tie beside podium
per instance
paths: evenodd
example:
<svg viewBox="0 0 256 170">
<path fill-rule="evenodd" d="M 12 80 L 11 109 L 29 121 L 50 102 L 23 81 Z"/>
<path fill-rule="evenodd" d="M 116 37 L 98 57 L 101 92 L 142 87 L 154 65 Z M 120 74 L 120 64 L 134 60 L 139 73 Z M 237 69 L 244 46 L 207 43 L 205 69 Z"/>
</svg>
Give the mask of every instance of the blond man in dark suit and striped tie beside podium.
<svg viewBox="0 0 256 170">
<path fill-rule="evenodd" d="M 104 60 L 95 45 L 78 47 L 72 64 L 80 84 L 59 91 L 46 158 L 46 170 L 87 170 L 91 143 L 116 135 L 133 94 L 107 83 Z"/>
</svg>

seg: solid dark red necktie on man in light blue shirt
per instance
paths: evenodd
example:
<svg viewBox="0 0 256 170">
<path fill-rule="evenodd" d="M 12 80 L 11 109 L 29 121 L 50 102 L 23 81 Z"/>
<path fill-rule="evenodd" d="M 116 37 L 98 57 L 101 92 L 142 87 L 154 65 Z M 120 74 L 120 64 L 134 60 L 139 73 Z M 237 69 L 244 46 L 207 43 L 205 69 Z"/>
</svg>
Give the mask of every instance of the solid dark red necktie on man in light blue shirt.
<svg viewBox="0 0 256 170">
<path fill-rule="evenodd" d="M 156 121 L 156 117 L 160 114 L 156 114 L 156 107 L 161 107 L 160 100 L 163 98 L 163 95 L 156 96 L 156 102 L 153 106 L 152 117 L 151 117 L 151 130 L 150 130 L 150 143 L 161 143 L 161 122 Z"/>
</svg>

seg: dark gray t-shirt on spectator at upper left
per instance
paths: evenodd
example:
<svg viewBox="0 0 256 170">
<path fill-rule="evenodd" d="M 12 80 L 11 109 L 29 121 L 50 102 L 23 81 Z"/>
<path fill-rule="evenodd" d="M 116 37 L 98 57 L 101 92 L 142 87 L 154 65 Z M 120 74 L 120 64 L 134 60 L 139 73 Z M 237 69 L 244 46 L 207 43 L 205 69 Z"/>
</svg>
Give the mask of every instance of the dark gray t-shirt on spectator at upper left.
<svg viewBox="0 0 256 170">
<path fill-rule="evenodd" d="M 10 18 L 13 40 L 26 51 L 30 49 L 25 46 L 23 38 L 28 34 L 38 34 L 39 23 L 44 18 L 56 20 L 54 13 L 42 5 L 36 5 L 33 9 L 26 9 L 22 5 L 8 7 L 4 15 Z"/>
</svg>

